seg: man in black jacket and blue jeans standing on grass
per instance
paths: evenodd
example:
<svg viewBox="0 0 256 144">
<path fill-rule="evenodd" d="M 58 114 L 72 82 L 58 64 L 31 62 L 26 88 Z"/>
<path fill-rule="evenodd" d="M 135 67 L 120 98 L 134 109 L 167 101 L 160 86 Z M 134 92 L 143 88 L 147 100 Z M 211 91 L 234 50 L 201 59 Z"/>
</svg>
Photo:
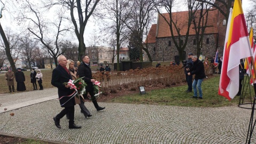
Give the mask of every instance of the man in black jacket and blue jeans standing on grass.
<svg viewBox="0 0 256 144">
<path fill-rule="evenodd" d="M 197 89 L 198 89 L 198 92 L 199 92 L 198 99 L 203 99 L 203 92 L 202 92 L 201 85 L 202 85 L 203 79 L 205 78 L 204 63 L 201 60 L 199 60 L 196 55 L 193 55 L 192 60 L 194 62 L 193 67 L 191 69 L 189 68 L 187 69 L 189 71 L 188 75 L 195 75 L 195 79 L 192 85 L 194 90 L 194 95 L 191 98 L 197 98 Z M 196 89 L 196 86 L 197 86 L 197 89 Z"/>
</svg>

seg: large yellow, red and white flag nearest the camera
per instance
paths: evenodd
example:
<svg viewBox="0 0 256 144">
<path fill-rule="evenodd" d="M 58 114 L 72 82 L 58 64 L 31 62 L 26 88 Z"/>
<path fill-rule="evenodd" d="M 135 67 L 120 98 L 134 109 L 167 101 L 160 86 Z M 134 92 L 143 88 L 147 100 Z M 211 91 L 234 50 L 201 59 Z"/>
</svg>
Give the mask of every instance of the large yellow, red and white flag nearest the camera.
<svg viewBox="0 0 256 144">
<path fill-rule="evenodd" d="M 238 92 L 240 59 L 252 56 L 241 0 L 235 0 L 234 10 L 230 13 L 219 85 L 219 95 L 229 100 Z"/>
</svg>

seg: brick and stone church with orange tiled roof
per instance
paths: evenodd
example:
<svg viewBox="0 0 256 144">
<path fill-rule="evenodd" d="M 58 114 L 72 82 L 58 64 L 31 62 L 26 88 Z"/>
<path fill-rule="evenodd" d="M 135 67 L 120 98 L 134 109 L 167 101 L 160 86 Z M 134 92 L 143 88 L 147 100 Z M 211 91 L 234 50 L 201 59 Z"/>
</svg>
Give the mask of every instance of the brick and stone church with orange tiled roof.
<svg viewBox="0 0 256 144">
<path fill-rule="evenodd" d="M 163 13 L 162 15 L 167 20 L 170 20 L 169 13 Z M 158 14 L 157 24 L 151 26 L 145 44 L 148 45 L 148 50 L 153 61 L 174 61 L 174 56 L 179 55 L 179 53 L 173 43 L 170 27 L 162 15 Z M 188 27 L 186 24 L 188 22 L 187 15 L 188 11 L 172 13 L 173 18 L 178 18 L 177 25 L 180 27 L 180 34 L 184 42 Z M 223 54 L 227 22 L 225 17 L 223 17 L 218 10 L 209 11 L 207 19 L 206 26 L 210 27 L 205 28 L 201 53 L 205 58 L 211 59 L 217 49 L 219 50 L 219 54 Z M 173 33 L 174 37 L 177 37 L 177 31 L 173 30 Z M 184 50 L 185 54 L 183 54 L 183 59 L 187 59 L 187 53 L 191 52 L 196 54 L 195 36 L 196 33 L 192 23 L 189 29 L 188 43 Z M 145 60 L 148 60 L 147 56 Z"/>
</svg>

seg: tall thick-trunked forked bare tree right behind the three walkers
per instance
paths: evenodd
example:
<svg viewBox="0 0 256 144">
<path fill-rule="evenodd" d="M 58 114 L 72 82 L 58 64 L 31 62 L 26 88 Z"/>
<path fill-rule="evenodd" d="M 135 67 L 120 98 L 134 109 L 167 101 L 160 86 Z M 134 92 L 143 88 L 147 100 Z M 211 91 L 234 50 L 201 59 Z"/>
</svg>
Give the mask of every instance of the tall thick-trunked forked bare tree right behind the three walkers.
<svg viewBox="0 0 256 144">
<path fill-rule="evenodd" d="M 85 44 L 84 44 L 84 30 L 85 26 L 93 14 L 95 7 L 100 0 L 47 0 L 46 6 L 52 7 L 52 5 L 61 5 L 66 7 L 70 11 L 71 21 L 75 27 L 75 34 L 78 39 L 78 60 L 81 61 L 81 57 L 85 54 Z M 76 15 L 77 14 L 77 17 Z M 78 21 L 78 22 L 77 22 Z"/>
</svg>

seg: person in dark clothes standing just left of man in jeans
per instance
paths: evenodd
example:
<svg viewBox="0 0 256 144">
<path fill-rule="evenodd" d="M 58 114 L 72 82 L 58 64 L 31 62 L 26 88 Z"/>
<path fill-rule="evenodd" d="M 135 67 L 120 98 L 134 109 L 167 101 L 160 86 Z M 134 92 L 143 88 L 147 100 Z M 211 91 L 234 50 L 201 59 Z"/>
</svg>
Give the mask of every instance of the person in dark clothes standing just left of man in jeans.
<svg viewBox="0 0 256 144">
<path fill-rule="evenodd" d="M 192 75 L 188 75 L 187 68 L 191 68 L 193 66 L 193 61 L 192 61 L 192 56 L 193 53 L 188 53 L 188 60 L 186 63 L 183 63 L 185 75 L 186 75 L 186 81 L 188 83 L 188 89 L 186 92 L 192 92 Z"/>
</svg>

